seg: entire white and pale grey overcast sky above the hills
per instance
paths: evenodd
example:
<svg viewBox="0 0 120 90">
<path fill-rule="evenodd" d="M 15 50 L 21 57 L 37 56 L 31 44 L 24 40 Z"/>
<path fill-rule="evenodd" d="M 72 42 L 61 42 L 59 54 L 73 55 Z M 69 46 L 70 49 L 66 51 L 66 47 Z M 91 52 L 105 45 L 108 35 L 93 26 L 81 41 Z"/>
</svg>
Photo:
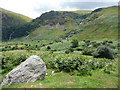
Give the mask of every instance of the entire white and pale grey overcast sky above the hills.
<svg viewBox="0 0 120 90">
<path fill-rule="evenodd" d="M 55 11 L 94 10 L 118 5 L 119 0 L 0 0 L 0 7 L 36 18 L 42 13 Z"/>
</svg>

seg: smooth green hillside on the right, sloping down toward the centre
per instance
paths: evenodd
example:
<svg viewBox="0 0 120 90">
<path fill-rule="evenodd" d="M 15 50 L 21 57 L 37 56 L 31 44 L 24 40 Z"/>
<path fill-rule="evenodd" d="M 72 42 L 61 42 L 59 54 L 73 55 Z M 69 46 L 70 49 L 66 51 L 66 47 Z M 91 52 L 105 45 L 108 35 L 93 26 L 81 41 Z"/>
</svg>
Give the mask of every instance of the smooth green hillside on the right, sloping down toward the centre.
<svg viewBox="0 0 120 90">
<path fill-rule="evenodd" d="M 118 7 L 100 8 L 84 19 L 77 39 L 118 39 Z"/>
</svg>

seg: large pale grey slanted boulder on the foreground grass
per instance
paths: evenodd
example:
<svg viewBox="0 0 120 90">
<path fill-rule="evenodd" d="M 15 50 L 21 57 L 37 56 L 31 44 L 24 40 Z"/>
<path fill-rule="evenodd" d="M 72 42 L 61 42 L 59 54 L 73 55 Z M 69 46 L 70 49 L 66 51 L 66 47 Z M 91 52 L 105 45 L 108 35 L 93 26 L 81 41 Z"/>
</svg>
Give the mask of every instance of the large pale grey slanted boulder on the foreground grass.
<svg viewBox="0 0 120 90">
<path fill-rule="evenodd" d="M 36 55 L 32 55 L 22 62 L 15 69 L 10 71 L 0 86 L 10 85 L 18 82 L 34 82 L 43 80 L 46 74 L 46 65 L 43 60 Z"/>
</svg>

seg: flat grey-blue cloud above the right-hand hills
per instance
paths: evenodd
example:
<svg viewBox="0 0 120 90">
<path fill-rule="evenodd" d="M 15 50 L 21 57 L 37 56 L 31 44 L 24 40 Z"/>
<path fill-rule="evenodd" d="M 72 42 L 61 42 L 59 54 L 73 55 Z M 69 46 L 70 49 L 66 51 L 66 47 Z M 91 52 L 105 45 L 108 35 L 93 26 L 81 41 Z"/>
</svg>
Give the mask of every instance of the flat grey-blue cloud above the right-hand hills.
<svg viewBox="0 0 120 90">
<path fill-rule="evenodd" d="M 77 10 L 94 10 L 96 7 L 108 7 L 117 4 L 117 2 L 64 2 L 61 6 L 63 8 L 76 8 Z"/>
</svg>

